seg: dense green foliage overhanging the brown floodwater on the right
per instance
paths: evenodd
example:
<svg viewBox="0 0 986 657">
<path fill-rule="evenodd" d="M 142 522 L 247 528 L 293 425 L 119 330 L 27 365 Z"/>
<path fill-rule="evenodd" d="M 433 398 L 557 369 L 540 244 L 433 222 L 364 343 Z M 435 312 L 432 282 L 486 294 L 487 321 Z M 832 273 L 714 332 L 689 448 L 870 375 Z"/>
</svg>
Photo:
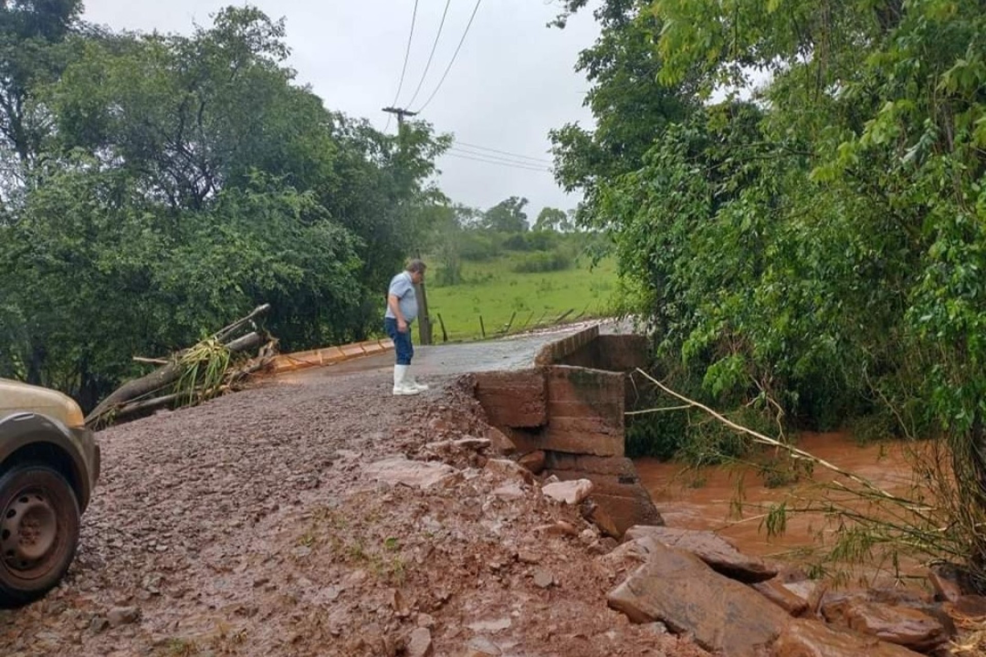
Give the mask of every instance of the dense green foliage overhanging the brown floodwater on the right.
<svg viewBox="0 0 986 657">
<path fill-rule="evenodd" d="M 597 16 L 579 66 L 599 128 L 555 133 L 559 178 L 613 237 L 669 375 L 789 426 L 888 414 L 948 436 L 966 508 L 984 508 L 983 3 L 609 0 Z M 638 72 L 647 104 L 619 96 Z M 973 515 L 956 526 L 980 558 Z"/>
</svg>

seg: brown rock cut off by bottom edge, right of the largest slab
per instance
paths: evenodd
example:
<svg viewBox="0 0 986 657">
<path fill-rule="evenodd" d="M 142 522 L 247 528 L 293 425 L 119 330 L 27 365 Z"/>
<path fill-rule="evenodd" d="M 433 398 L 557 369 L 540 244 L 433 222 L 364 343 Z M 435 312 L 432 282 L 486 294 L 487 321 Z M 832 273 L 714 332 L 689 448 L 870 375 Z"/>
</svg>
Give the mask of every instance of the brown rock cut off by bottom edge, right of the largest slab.
<svg viewBox="0 0 986 657">
<path fill-rule="evenodd" d="M 804 619 L 788 624 L 774 643 L 773 652 L 774 657 L 918 657 L 920 654 L 875 636 Z"/>
</svg>

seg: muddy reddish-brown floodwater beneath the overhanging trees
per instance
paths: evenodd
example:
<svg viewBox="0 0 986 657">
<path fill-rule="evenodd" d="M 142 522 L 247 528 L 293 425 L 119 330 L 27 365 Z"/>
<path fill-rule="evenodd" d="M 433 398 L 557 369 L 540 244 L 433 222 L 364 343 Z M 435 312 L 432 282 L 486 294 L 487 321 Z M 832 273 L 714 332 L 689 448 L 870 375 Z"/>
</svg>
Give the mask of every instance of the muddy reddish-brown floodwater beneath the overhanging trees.
<svg viewBox="0 0 986 657">
<path fill-rule="evenodd" d="M 798 447 L 892 493 L 907 493 L 914 480 L 913 445 L 907 443 L 860 446 L 845 433 L 802 433 Z M 646 458 L 635 464 L 642 484 L 669 526 L 715 530 L 744 553 L 783 557 L 796 549 L 815 546 L 835 531 L 825 526 L 821 514 L 799 513 L 789 516 L 783 535 L 767 536 L 761 522 L 763 509 L 757 507 L 782 501 L 792 493 L 822 494 L 818 489 L 810 490 L 810 482 L 770 489 L 751 466 L 687 469 L 680 463 Z M 829 471 L 815 467 L 812 482 L 831 480 Z M 735 502 L 740 491 L 744 510 L 738 515 Z M 906 574 L 922 572 L 917 562 L 907 563 L 906 570 Z"/>
</svg>

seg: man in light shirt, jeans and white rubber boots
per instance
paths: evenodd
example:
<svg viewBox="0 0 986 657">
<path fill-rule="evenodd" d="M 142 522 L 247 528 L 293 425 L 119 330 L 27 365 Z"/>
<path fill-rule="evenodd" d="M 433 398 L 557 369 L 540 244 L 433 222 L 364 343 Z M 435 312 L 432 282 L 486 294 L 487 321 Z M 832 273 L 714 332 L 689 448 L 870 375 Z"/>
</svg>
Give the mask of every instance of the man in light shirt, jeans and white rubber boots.
<svg viewBox="0 0 986 657">
<path fill-rule="evenodd" d="M 414 286 L 425 279 L 425 263 L 411 260 L 404 271 L 390 280 L 387 290 L 387 312 L 384 313 L 384 328 L 393 340 L 393 351 L 397 361 L 393 365 L 393 394 L 416 395 L 428 386 L 414 380 L 407 369 L 414 357 L 411 345 L 411 322 L 418 316 L 418 297 Z"/>
</svg>

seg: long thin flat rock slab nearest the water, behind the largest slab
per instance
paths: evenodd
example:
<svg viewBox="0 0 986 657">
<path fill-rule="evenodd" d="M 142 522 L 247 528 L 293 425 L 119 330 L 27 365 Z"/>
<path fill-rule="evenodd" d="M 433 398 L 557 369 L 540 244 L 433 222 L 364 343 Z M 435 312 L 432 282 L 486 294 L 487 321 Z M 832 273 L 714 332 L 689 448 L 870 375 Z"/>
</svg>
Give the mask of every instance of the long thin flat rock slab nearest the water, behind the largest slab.
<svg viewBox="0 0 986 657">
<path fill-rule="evenodd" d="M 628 529 L 624 538 L 633 540 L 645 536 L 670 548 L 687 550 L 717 572 L 741 582 L 762 582 L 777 575 L 777 568 L 764 563 L 761 558 L 743 555 L 732 543 L 712 532 L 641 525 Z"/>
</svg>

